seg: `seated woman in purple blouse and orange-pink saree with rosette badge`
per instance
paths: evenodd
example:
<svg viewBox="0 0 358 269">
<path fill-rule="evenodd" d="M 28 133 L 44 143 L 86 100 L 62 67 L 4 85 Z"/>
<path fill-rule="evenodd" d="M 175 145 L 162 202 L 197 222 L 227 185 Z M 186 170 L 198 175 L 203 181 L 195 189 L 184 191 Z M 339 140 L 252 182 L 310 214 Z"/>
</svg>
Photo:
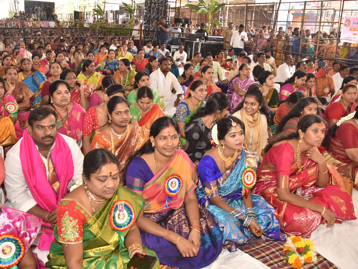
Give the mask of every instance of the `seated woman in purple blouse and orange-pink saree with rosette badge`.
<svg viewBox="0 0 358 269">
<path fill-rule="evenodd" d="M 167 265 L 163 268 L 203 268 L 221 253 L 222 235 L 198 204 L 196 166 L 177 149 L 179 128 L 173 118 L 156 119 L 149 136 L 126 169 L 127 188 L 144 198 L 137 221 L 143 244 Z"/>
</svg>

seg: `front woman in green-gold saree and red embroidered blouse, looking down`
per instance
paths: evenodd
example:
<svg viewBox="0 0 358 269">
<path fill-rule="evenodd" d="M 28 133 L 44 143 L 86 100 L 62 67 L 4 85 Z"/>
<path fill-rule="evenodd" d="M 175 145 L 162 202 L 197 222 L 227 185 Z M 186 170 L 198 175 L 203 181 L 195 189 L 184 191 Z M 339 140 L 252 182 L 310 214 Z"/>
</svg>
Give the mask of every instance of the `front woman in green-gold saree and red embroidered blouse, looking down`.
<svg viewBox="0 0 358 269">
<path fill-rule="evenodd" d="M 135 253 L 156 256 L 142 245 L 136 224 L 144 199 L 119 184 L 116 157 L 105 149 L 89 152 L 83 180 L 59 203 L 46 267 L 126 269 Z"/>
</svg>

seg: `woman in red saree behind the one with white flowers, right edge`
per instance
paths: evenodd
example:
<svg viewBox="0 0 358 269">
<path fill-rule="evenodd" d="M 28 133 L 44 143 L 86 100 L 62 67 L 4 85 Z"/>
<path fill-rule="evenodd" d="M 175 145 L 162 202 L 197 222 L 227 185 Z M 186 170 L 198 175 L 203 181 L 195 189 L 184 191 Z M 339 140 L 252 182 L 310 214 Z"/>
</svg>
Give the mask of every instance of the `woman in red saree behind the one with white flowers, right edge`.
<svg viewBox="0 0 358 269">
<path fill-rule="evenodd" d="M 342 88 L 342 95 L 338 101 L 328 105 L 324 120 L 326 121 L 326 129 L 334 126 L 341 118 L 348 116 L 348 114 L 355 111 L 357 104 L 357 86 L 354 84 L 347 84 Z"/>
</svg>

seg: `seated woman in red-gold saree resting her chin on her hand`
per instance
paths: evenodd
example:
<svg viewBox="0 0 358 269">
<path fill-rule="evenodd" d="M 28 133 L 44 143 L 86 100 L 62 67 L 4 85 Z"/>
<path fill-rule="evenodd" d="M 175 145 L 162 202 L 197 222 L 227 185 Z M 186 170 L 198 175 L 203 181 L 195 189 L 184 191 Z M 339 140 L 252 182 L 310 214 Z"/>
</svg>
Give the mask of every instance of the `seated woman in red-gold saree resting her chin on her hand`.
<svg viewBox="0 0 358 269">
<path fill-rule="evenodd" d="M 342 178 L 316 148 L 324 138 L 323 119 L 305 115 L 297 130 L 277 136 L 266 147 L 252 193 L 275 207 L 283 232 L 309 237 L 324 220 L 332 227 L 356 217 Z"/>
</svg>

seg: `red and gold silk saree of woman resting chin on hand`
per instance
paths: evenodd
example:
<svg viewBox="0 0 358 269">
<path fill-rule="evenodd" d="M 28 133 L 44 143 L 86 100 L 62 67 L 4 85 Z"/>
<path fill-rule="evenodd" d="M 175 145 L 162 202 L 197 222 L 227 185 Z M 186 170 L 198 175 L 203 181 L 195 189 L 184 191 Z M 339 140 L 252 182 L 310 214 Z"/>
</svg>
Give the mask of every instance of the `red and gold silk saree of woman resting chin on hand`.
<svg viewBox="0 0 358 269">
<path fill-rule="evenodd" d="M 270 151 L 277 151 L 277 154 L 284 156 L 286 160 L 291 158 L 294 160 L 294 157 L 285 156 L 285 153 L 288 153 L 282 150 L 280 145 L 282 144 L 272 147 L 262 161 L 257 170 L 257 181 L 252 192 L 261 195 L 269 204 L 275 207 L 275 215 L 280 221 L 281 231 L 289 235 L 309 237 L 310 233 L 324 219 L 320 215 L 320 212 L 311 211 L 306 207 L 294 206 L 279 200 L 276 188 L 289 189 L 291 193 L 295 193 L 297 188 L 302 187 L 302 195 L 312 194 L 313 197 L 308 200 L 329 209 L 334 213 L 336 222 L 356 219 L 352 197 L 344 189 L 343 180 L 337 170 L 327 165 L 330 179 L 328 185 L 324 188 L 316 185 L 318 164 L 312 160 L 308 160 L 304 169 L 297 175 L 297 165 L 295 162 L 291 166 L 290 175 L 281 175 L 281 171 L 276 171 L 275 163 L 277 160 L 271 158 L 271 156 L 276 155 L 270 155 Z M 280 153 L 278 153 L 279 150 Z M 293 149 L 291 153 L 294 154 Z M 302 158 L 302 162 L 305 163 L 307 159 L 305 157 Z M 277 176 L 276 173 L 278 173 Z"/>
</svg>

